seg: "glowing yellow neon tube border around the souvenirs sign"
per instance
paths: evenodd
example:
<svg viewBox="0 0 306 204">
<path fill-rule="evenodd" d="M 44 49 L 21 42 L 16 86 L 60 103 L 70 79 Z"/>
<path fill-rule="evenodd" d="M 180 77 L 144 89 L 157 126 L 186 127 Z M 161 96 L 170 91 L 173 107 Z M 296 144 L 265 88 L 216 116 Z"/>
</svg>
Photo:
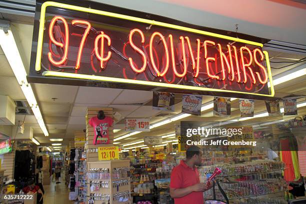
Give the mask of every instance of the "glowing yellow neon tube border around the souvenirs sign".
<svg viewBox="0 0 306 204">
<path fill-rule="evenodd" d="M 44 31 L 44 20 L 45 20 L 45 10 L 47 6 L 55 6 L 59 8 L 66 8 L 71 10 L 77 10 L 82 12 L 89 12 L 89 13 L 95 13 L 99 15 L 106 15 L 110 17 L 116 17 L 121 19 L 127 19 L 147 24 L 153 24 L 153 25 L 159 25 L 163 27 L 203 34 L 203 35 L 209 35 L 217 38 L 223 38 L 228 39 L 232 41 L 247 43 L 247 44 L 253 44 L 256 46 L 262 47 L 262 43 L 245 40 L 245 39 L 239 39 L 236 37 L 230 37 L 222 34 L 217 34 L 213 32 L 207 32 L 203 30 L 193 29 L 189 27 L 184 27 L 180 25 L 174 25 L 170 23 L 155 21 L 155 20 L 149 20 L 139 17 L 133 17 L 129 15 L 123 15 L 113 12 L 107 12 L 102 10 L 96 10 L 92 8 L 86 8 L 86 7 L 80 7 L 75 5 L 69 5 L 64 3 L 58 3 L 53 1 L 46 1 L 42 3 L 41 5 L 41 11 L 40 11 L 40 22 L 39 22 L 39 32 L 38 32 L 38 40 L 37 40 L 37 53 L 36 53 L 36 62 L 35 62 L 35 70 L 40 71 L 40 63 L 41 63 L 41 54 L 42 54 L 42 44 L 43 44 L 43 31 Z M 197 87 L 197 86 L 188 86 L 188 85 L 179 85 L 179 84 L 169 84 L 169 83 L 160 83 L 160 82 L 152 82 L 152 81 L 142 81 L 142 80 L 133 80 L 133 79 L 124 79 L 124 78 L 114 78 L 114 77 L 107 77 L 107 76 L 95 76 L 95 75 L 87 75 L 87 74 L 77 74 L 77 73 L 66 73 L 66 72 L 56 72 L 56 71 L 44 71 L 42 73 L 43 76 L 58 76 L 58 77 L 69 77 L 69 78 L 80 78 L 80 79 L 90 79 L 90 80 L 101 80 L 101 81 L 111 81 L 111 82 L 120 82 L 120 83 L 131 83 L 131 84 L 145 84 L 145 85 L 153 85 L 153 86 L 163 86 L 163 87 L 169 87 L 169 88 L 180 88 L 180 89 L 189 89 L 189 90 L 202 90 L 202 91 L 217 91 L 217 92 L 234 92 L 234 93 L 247 93 L 252 95 L 261 95 L 261 96 L 274 96 L 274 87 L 272 82 L 272 74 L 271 74 L 271 68 L 269 64 L 269 58 L 268 53 L 266 51 L 263 51 L 265 55 L 266 65 L 267 65 L 267 71 L 270 81 L 270 87 L 271 87 L 271 94 L 260 94 L 260 93 L 249 93 L 249 92 L 242 92 L 242 91 L 234 91 L 234 90 L 223 90 L 223 89 L 215 89 L 215 88 L 205 88 L 205 87 Z"/>
</svg>

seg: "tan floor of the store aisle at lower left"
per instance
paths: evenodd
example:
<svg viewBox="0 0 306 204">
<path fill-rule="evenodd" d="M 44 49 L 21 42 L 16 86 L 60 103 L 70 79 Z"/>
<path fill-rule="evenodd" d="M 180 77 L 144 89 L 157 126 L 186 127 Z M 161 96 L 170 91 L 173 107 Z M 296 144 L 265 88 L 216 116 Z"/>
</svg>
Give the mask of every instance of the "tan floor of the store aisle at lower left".
<svg viewBox="0 0 306 204">
<path fill-rule="evenodd" d="M 43 204 L 70 204 L 73 203 L 68 199 L 69 189 L 65 185 L 63 179 L 60 179 L 61 183 L 51 182 L 49 185 L 44 185 Z"/>
</svg>

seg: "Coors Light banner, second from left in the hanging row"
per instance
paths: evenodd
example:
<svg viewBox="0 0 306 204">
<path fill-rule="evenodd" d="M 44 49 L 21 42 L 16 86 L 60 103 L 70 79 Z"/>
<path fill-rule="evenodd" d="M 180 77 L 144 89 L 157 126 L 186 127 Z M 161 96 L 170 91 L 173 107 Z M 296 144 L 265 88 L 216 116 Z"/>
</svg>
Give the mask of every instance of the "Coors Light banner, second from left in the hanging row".
<svg viewBox="0 0 306 204">
<path fill-rule="evenodd" d="M 181 112 L 192 115 L 201 115 L 202 96 L 183 95 L 181 101 Z"/>
</svg>

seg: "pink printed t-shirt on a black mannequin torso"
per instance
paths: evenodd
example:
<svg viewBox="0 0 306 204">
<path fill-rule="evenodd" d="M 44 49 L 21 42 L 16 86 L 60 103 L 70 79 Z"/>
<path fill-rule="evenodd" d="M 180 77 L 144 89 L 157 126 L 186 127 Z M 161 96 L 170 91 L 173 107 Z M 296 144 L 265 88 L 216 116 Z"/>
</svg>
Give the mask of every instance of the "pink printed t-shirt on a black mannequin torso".
<svg viewBox="0 0 306 204">
<path fill-rule="evenodd" d="M 99 119 L 97 116 L 89 119 L 89 124 L 94 128 L 93 144 L 108 144 L 108 128 L 112 125 L 112 118 L 105 116 Z"/>
</svg>

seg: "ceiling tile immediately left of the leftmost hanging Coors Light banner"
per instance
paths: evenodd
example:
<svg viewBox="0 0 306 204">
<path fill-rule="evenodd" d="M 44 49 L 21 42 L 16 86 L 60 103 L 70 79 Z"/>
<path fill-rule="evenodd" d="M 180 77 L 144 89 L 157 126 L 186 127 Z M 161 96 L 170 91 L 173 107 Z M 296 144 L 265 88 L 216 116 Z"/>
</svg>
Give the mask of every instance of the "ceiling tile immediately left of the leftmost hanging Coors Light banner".
<svg viewBox="0 0 306 204">
<path fill-rule="evenodd" d="M 152 99 L 153 93 L 144 90 L 123 90 L 112 104 L 143 103 Z"/>
</svg>

